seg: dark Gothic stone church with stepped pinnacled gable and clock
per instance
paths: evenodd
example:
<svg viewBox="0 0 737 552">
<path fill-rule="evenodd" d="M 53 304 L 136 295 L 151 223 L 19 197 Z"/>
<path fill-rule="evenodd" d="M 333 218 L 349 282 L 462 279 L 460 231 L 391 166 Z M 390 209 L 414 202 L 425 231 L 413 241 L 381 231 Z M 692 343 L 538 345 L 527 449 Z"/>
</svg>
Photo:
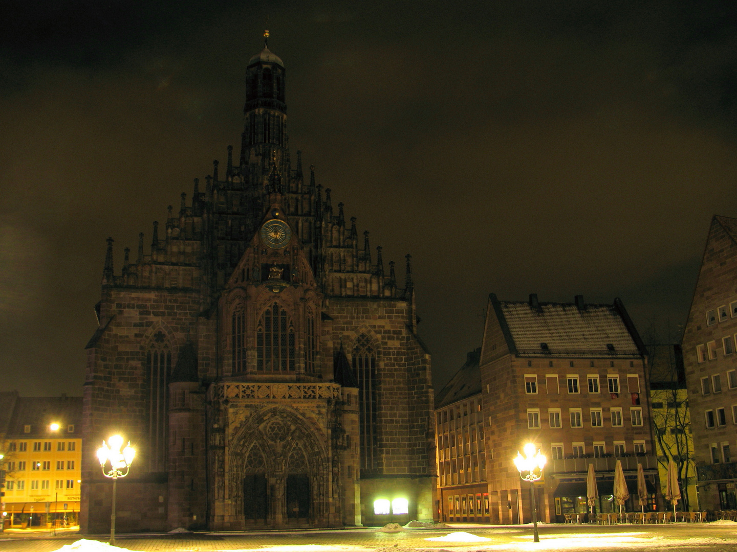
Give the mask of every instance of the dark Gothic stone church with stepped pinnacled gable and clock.
<svg viewBox="0 0 737 552">
<path fill-rule="evenodd" d="M 111 484 L 94 451 L 139 451 L 118 484 L 118 531 L 383 525 L 432 519 L 430 355 L 405 281 L 368 231 L 296 168 L 285 71 L 245 71 L 240 158 L 214 162 L 150 252 L 113 265 L 84 383 L 84 533 L 105 532 Z M 224 174 L 222 174 L 224 172 Z M 361 243 L 363 241 L 363 243 Z"/>
</svg>

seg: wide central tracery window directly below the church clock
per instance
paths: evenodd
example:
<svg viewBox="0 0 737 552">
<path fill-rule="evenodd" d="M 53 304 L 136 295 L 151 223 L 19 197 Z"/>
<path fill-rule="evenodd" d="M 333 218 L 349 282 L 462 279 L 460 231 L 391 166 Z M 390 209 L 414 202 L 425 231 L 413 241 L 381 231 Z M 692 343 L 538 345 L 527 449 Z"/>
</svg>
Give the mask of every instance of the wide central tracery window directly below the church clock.
<svg viewBox="0 0 737 552">
<path fill-rule="evenodd" d="M 275 302 L 264 311 L 256 328 L 256 369 L 294 372 L 294 326 L 287 311 Z"/>
</svg>

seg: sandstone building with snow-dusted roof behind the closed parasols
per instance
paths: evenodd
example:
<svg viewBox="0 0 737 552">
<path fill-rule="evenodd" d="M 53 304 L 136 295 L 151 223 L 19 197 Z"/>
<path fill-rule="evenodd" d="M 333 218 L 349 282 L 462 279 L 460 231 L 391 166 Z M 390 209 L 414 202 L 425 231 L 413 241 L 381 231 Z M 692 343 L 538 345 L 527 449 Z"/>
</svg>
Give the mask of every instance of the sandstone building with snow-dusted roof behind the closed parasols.
<svg viewBox="0 0 737 552">
<path fill-rule="evenodd" d="M 596 512 L 613 511 L 616 460 L 632 495 L 643 464 L 654 506 L 646 350 L 621 300 L 540 302 L 532 294 L 500 301 L 491 294 L 480 364 L 492 522 L 531 521 L 530 485 L 512 463 L 526 442 L 548 457 L 544 481 L 535 486 L 542 520 L 587 512 L 589 464 L 601 495 Z M 627 507 L 634 507 L 632 498 Z"/>
</svg>

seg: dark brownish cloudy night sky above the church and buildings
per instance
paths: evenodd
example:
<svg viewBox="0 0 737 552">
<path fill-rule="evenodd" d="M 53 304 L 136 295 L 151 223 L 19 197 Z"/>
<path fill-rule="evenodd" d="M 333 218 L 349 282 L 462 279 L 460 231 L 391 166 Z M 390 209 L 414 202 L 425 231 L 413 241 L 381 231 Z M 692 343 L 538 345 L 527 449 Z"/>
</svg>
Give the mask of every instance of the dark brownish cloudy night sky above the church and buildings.
<svg viewBox="0 0 737 552">
<path fill-rule="evenodd" d="M 436 387 L 489 292 L 621 297 L 680 339 L 737 216 L 735 2 L 5 0 L 0 389 L 82 393 L 105 238 L 119 273 L 240 151 L 267 15 L 293 161 L 400 279 L 412 253 Z"/>
</svg>

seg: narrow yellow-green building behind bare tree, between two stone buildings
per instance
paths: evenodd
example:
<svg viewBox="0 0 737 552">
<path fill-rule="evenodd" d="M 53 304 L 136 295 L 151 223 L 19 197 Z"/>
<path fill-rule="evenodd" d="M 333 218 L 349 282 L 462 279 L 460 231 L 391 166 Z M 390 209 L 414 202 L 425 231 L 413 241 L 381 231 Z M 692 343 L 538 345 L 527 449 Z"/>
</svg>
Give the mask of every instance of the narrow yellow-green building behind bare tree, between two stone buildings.
<svg viewBox="0 0 737 552">
<path fill-rule="evenodd" d="M 698 509 L 696 463 L 683 354 L 678 344 L 648 344 L 649 400 L 660 492 L 666 494 L 668 461 L 678 468 L 682 508 Z"/>
</svg>

